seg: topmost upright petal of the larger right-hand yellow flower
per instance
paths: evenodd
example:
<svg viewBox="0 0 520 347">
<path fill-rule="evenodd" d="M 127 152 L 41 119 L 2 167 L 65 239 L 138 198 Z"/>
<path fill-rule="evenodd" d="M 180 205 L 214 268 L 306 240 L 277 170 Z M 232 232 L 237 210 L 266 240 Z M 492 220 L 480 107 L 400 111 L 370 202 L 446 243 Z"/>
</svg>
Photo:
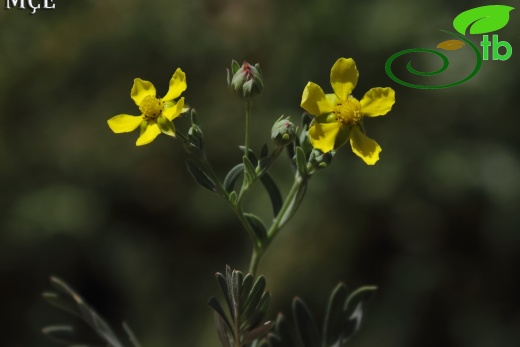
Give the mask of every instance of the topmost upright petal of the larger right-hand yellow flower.
<svg viewBox="0 0 520 347">
<path fill-rule="evenodd" d="M 359 72 L 352 58 L 339 58 L 330 70 L 330 85 L 341 100 L 347 100 L 357 85 Z"/>
</svg>

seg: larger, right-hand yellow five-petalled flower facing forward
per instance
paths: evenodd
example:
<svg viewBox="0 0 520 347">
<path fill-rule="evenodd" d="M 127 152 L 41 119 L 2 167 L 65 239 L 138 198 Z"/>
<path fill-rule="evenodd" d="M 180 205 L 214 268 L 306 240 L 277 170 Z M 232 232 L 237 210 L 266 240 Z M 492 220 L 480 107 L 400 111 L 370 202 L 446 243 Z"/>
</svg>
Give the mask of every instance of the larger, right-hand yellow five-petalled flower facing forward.
<svg viewBox="0 0 520 347">
<path fill-rule="evenodd" d="M 325 94 L 309 82 L 302 95 L 301 107 L 313 115 L 309 137 L 314 148 L 328 152 L 350 140 L 352 151 L 368 165 L 379 160 L 381 147 L 365 135 L 363 117 L 385 115 L 395 103 L 392 88 L 372 88 L 358 101 L 351 93 L 356 87 L 358 70 L 352 58 L 340 58 L 330 71 L 334 94 Z"/>
</svg>

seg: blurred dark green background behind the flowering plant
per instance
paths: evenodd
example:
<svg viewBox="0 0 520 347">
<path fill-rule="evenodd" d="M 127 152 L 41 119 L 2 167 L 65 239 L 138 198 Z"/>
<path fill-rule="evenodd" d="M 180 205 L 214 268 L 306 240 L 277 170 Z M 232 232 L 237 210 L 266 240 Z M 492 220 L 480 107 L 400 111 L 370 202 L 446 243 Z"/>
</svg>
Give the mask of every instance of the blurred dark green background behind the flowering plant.
<svg viewBox="0 0 520 347">
<path fill-rule="evenodd" d="M 181 67 L 223 177 L 243 142 L 243 105 L 225 82 L 231 59 L 264 72 L 252 119 L 259 150 L 280 115 L 299 119 L 307 81 L 330 91 L 330 67 L 352 57 L 357 98 L 375 86 L 396 90 L 393 110 L 365 122 L 381 160 L 368 167 L 345 147 L 313 177 L 260 265 L 270 317 L 290 316 L 298 295 L 321 319 L 337 282 L 375 284 L 351 346 L 518 346 L 517 10 L 498 32 L 513 47 L 509 60 L 485 61 L 469 82 L 428 91 L 393 82 L 386 59 L 434 48 L 451 38 L 438 29 L 489 2 L 55 3 L 35 15 L 0 10 L 2 345 L 55 346 L 40 329 L 71 317 L 40 293 L 57 275 L 118 331 L 127 321 L 144 346 L 217 346 L 206 306 L 218 293 L 213 274 L 226 264 L 245 269 L 248 240 L 223 202 L 193 182 L 180 142 L 159 136 L 137 148 L 136 132 L 112 134 L 106 120 L 137 113 L 134 78 L 161 95 Z M 453 76 L 473 66 L 469 50 L 458 52 Z M 276 170 L 286 193 L 287 162 Z M 264 196 L 248 206 L 268 216 Z"/>
</svg>

